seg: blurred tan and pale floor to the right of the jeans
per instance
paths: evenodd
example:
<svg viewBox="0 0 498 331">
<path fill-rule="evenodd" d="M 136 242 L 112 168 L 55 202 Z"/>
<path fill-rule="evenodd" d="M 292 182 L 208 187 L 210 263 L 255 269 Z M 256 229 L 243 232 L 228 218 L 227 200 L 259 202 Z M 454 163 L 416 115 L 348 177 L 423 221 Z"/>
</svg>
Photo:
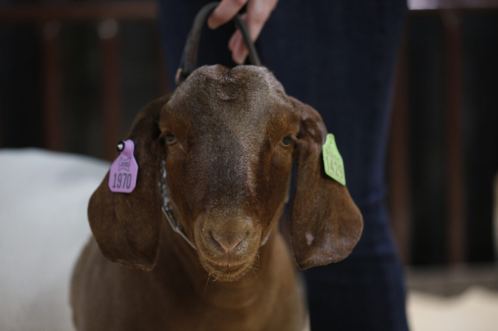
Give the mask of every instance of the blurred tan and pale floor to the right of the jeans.
<svg viewBox="0 0 498 331">
<path fill-rule="evenodd" d="M 412 331 L 498 331 L 498 264 L 409 267 Z"/>
</svg>

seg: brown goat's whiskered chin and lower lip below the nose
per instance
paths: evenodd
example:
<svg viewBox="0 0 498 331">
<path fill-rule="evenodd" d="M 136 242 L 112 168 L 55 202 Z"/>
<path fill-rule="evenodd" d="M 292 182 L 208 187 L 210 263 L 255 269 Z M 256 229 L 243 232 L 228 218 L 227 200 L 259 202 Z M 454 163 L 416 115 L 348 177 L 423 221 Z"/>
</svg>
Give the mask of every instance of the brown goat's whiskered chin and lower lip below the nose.
<svg viewBox="0 0 498 331">
<path fill-rule="evenodd" d="M 216 281 L 235 282 L 243 279 L 248 273 L 255 274 L 258 269 L 257 251 L 243 262 L 216 263 L 208 259 L 203 252 L 199 252 L 199 259 L 202 266 L 210 277 Z M 254 272 L 252 273 L 251 272 Z"/>
</svg>

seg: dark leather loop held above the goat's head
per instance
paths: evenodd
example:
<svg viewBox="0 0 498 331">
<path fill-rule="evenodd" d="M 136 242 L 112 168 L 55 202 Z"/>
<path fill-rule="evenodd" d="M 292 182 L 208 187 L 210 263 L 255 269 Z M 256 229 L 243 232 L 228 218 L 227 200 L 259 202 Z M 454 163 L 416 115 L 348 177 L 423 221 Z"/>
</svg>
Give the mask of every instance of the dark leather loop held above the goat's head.
<svg viewBox="0 0 498 331">
<path fill-rule="evenodd" d="M 210 2 L 199 10 L 194 18 L 192 28 L 187 36 L 187 41 L 185 42 L 185 47 L 183 49 L 182 58 L 180 60 L 180 67 L 178 68 L 175 76 L 175 83 L 179 85 L 181 82 L 185 81 L 187 77 L 197 68 L 197 54 L 199 52 L 199 41 L 201 39 L 202 28 L 209 17 L 209 15 L 215 10 L 219 2 Z M 237 14 L 232 19 L 235 26 L 242 32 L 242 37 L 249 50 L 249 62 L 254 66 L 261 66 L 261 61 L 257 55 L 256 48 L 250 40 L 249 31 L 246 23 L 242 17 Z"/>
</svg>

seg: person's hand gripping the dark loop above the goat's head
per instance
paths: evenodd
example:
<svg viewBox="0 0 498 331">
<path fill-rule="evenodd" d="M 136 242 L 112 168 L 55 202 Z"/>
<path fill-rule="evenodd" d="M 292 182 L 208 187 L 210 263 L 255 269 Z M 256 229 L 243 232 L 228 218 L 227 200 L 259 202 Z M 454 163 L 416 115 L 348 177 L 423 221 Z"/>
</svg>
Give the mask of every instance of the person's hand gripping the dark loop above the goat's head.
<svg viewBox="0 0 498 331">
<path fill-rule="evenodd" d="M 241 15 L 249 30 L 249 36 L 254 42 L 264 23 L 275 9 L 278 0 L 222 0 L 218 7 L 208 18 L 208 26 L 216 29 L 222 24 L 230 21 L 241 8 L 247 3 L 247 11 Z M 248 49 L 242 38 L 242 33 L 237 29 L 228 43 L 232 51 L 232 59 L 235 63 L 243 64 L 248 56 Z"/>
</svg>

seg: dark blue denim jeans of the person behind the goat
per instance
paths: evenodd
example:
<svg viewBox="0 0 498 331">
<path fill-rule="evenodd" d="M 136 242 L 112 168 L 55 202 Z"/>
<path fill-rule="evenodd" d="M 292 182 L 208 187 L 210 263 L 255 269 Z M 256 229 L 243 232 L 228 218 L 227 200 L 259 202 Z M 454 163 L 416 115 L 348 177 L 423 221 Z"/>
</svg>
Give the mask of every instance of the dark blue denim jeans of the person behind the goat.
<svg viewBox="0 0 498 331">
<path fill-rule="evenodd" d="M 160 0 L 170 82 L 192 19 L 207 1 Z M 310 104 L 333 133 L 365 228 L 345 260 L 304 272 L 311 329 L 407 330 L 402 267 L 385 208 L 384 161 L 405 0 L 281 0 L 256 42 L 286 93 Z M 199 65 L 234 66 L 228 24 L 201 37 Z"/>
</svg>

